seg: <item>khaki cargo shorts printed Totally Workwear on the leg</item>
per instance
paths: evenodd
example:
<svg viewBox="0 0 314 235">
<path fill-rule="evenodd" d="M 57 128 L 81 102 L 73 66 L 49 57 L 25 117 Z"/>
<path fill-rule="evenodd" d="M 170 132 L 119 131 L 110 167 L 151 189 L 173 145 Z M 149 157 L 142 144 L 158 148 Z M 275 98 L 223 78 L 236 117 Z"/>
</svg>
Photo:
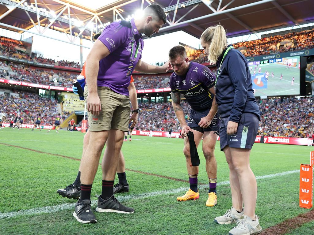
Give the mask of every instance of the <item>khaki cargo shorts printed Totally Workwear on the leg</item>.
<svg viewBox="0 0 314 235">
<path fill-rule="evenodd" d="M 118 94 L 107 86 L 97 87 L 100 98 L 101 111 L 98 116 L 88 112 L 90 131 L 104 131 L 117 129 L 126 132 L 130 120 L 130 99 L 128 96 Z M 84 98 L 87 101 L 88 88 L 84 88 Z"/>
</svg>

